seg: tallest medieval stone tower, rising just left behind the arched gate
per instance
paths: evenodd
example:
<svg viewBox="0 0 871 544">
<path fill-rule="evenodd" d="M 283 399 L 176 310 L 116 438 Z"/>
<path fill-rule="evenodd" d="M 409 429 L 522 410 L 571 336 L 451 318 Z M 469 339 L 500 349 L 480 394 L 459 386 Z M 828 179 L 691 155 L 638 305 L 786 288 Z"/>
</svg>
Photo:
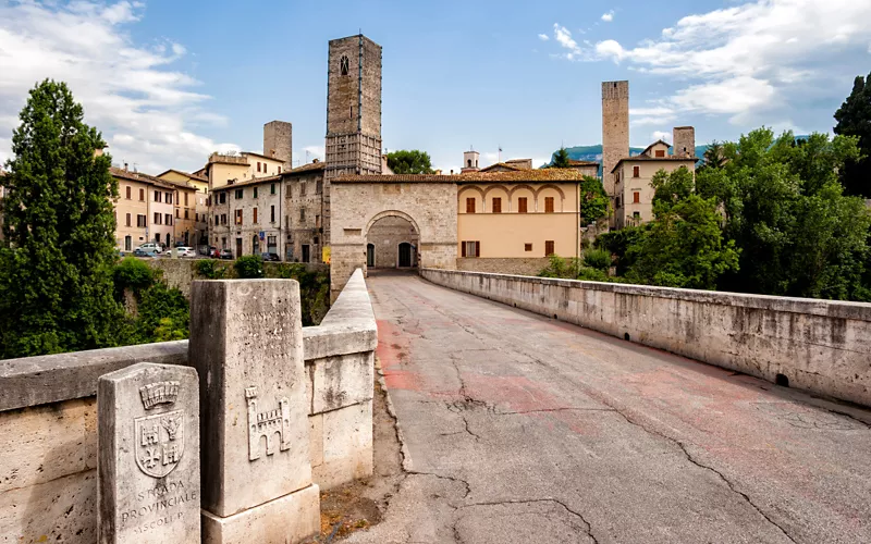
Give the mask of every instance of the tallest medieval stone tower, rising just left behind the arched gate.
<svg viewBox="0 0 871 544">
<path fill-rule="evenodd" d="M 381 173 L 381 46 L 363 34 L 330 40 L 323 244 L 330 243 L 330 181 Z"/>
</svg>

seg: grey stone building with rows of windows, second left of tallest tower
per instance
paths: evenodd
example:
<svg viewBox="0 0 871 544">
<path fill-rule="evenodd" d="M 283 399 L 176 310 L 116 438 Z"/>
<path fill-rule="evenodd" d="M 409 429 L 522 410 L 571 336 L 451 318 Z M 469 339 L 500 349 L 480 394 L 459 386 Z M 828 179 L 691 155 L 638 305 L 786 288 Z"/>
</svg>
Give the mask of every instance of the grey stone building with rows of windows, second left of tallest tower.
<svg viewBox="0 0 871 544">
<path fill-rule="evenodd" d="M 284 213 L 280 175 L 233 182 L 211 190 L 211 245 L 243 255 L 281 257 L 281 218 Z"/>
</svg>

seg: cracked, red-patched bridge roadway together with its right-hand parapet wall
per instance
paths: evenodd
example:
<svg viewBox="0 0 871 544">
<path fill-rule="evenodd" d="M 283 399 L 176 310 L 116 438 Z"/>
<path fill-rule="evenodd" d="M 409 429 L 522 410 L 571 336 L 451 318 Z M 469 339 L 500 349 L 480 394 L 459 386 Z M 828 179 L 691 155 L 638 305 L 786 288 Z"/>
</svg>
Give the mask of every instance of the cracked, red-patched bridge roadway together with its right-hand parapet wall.
<svg viewBox="0 0 871 544">
<path fill-rule="evenodd" d="M 421 274 L 367 280 L 407 477 L 349 542 L 871 542 L 871 305 Z"/>
</svg>

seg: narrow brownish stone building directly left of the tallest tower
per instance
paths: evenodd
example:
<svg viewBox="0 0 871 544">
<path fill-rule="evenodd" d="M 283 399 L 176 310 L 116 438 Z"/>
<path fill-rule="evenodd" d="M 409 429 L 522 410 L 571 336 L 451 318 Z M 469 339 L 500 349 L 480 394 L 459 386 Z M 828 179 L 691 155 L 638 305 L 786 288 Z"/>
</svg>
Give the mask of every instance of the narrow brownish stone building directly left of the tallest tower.
<svg viewBox="0 0 871 544">
<path fill-rule="evenodd" d="M 326 164 L 303 164 L 281 175 L 284 184 L 284 258 L 322 262 L 324 246 L 323 171 Z M 327 256 L 328 257 L 328 256 Z"/>
</svg>

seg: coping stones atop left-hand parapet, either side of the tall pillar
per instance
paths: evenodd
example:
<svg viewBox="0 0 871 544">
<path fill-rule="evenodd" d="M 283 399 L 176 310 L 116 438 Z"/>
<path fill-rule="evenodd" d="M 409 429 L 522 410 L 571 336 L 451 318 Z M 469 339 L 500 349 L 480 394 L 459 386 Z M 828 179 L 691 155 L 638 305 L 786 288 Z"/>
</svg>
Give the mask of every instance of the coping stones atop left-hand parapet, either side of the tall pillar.
<svg viewBox="0 0 871 544">
<path fill-rule="evenodd" d="M 303 353 L 315 359 L 360 351 L 378 345 L 369 293 L 357 269 L 318 326 L 303 327 Z M 89 349 L 0 360 L 0 411 L 59 403 L 97 394 L 97 379 L 136 362 L 185 364 L 187 341 Z"/>
</svg>

